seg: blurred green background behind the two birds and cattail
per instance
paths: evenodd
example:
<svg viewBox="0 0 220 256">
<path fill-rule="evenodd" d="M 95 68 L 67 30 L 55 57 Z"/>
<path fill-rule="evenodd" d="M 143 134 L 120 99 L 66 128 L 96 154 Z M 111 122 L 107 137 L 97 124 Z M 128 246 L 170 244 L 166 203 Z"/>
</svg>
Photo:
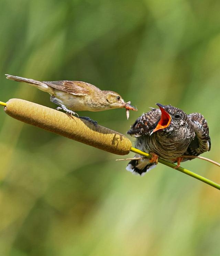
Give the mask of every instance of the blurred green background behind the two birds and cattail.
<svg viewBox="0 0 220 256">
<path fill-rule="evenodd" d="M 0 100 L 56 107 L 9 73 L 117 91 L 137 105 L 128 121 L 122 109 L 80 114 L 123 134 L 156 102 L 201 112 L 203 156 L 220 161 L 219 11 L 218 0 L 1 0 Z M 220 255 L 217 189 L 161 164 L 134 176 L 120 156 L 0 110 L 1 256 Z M 220 183 L 217 166 L 182 166 Z"/>
</svg>

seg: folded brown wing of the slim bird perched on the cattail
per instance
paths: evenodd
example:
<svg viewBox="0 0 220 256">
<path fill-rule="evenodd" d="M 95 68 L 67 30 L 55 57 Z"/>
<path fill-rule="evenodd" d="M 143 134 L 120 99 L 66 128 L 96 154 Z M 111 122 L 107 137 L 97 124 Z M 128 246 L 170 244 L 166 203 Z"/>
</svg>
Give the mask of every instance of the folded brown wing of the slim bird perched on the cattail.
<svg viewBox="0 0 220 256">
<path fill-rule="evenodd" d="M 60 91 L 65 91 L 67 93 L 86 96 L 89 93 L 88 86 L 89 83 L 80 81 L 44 81 L 44 83 L 50 87 L 53 87 Z M 91 85 L 93 87 L 93 85 Z M 95 86 L 94 86 L 95 87 Z M 96 87 L 97 88 L 97 87 Z"/>
</svg>

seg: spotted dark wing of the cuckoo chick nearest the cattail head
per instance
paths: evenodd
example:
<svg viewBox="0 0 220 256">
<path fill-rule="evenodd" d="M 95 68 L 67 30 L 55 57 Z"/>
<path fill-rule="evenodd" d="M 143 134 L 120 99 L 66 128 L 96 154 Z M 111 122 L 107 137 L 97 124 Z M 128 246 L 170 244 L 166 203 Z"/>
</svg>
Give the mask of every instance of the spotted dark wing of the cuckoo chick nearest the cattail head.
<svg viewBox="0 0 220 256">
<path fill-rule="evenodd" d="M 134 122 L 127 134 L 133 137 L 150 135 L 161 118 L 161 110 L 153 108 Z"/>
</svg>

